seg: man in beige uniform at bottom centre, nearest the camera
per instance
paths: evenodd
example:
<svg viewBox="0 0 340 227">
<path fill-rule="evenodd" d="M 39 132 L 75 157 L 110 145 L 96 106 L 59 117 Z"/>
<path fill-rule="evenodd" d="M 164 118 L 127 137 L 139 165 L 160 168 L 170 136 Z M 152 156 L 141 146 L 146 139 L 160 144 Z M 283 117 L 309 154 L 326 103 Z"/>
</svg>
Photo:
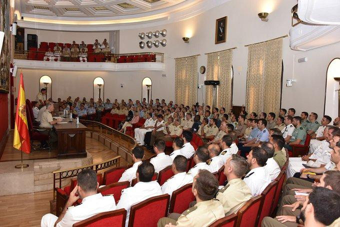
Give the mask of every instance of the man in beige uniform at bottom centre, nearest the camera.
<svg viewBox="0 0 340 227">
<path fill-rule="evenodd" d="M 192 193 L 197 203 L 181 214 L 170 213 L 168 217 L 160 218 L 157 226 L 165 226 L 168 223 L 175 224 L 178 227 L 209 226 L 215 220 L 224 217 L 222 204 L 213 198 L 217 190 L 217 179 L 209 171 L 201 169 L 192 183 Z M 200 194 L 198 194 L 198 191 Z M 204 199 L 199 197 L 201 195 L 204 196 Z"/>
</svg>

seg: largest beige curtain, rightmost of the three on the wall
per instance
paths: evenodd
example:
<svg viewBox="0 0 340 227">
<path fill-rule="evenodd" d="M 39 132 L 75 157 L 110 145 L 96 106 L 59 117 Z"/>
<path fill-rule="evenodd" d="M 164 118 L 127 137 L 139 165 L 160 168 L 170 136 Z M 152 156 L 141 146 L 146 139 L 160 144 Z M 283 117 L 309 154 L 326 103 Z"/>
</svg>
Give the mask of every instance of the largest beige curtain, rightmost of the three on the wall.
<svg viewBox="0 0 340 227">
<path fill-rule="evenodd" d="M 248 46 L 247 112 L 277 112 L 281 98 L 282 38 Z"/>
</svg>

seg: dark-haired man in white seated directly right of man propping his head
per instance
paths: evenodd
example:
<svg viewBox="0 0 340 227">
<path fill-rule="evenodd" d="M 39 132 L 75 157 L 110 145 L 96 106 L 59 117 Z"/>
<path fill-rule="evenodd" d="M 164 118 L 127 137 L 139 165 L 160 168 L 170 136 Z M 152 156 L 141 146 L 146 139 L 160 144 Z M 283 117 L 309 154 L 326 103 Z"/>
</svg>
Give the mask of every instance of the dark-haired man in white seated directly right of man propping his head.
<svg viewBox="0 0 340 227">
<path fill-rule="evenodd" d="M 138 165 L 136 178 L 137 183 L 133 187 L 127 187 L 121 190 L 121 196 L 117 203 L 117 209 L 126 209 L 125 226 L 128 224 L 130 216 L 130 208 L 138 202 L 144 201 L 147 198 L 161 195 L 162 191 L 157 181 L 151 181 L 154 174 L 152 163 L 143 161 Z"/>
</svg>

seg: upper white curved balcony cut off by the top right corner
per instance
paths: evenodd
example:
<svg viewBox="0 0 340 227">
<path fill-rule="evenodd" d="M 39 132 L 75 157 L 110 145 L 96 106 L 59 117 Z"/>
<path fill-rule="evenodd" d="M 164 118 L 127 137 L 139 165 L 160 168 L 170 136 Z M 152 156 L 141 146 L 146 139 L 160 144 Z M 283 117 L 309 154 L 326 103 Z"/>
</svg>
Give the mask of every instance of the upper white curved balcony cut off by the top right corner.
<svg viewBox="0 0 340 227">
<path fill-rule="evenodd" d="M 298 0 L 300 20 L 313 24 L 340 25 L 340 0 Z"/>
</svg>

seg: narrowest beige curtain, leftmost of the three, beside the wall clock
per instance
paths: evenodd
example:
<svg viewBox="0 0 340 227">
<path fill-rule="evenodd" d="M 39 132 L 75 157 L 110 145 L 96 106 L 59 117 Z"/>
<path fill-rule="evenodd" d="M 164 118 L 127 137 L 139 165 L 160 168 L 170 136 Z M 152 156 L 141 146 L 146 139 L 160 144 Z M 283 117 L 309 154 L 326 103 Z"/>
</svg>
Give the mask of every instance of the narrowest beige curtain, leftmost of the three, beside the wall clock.
<svg viewBox="0 0 340 227">
<path fill-rule="evenodd" d="M 192 105 L 197 100 L 197 56 L 175 59 L 175 103 Z"/>
</svg>

